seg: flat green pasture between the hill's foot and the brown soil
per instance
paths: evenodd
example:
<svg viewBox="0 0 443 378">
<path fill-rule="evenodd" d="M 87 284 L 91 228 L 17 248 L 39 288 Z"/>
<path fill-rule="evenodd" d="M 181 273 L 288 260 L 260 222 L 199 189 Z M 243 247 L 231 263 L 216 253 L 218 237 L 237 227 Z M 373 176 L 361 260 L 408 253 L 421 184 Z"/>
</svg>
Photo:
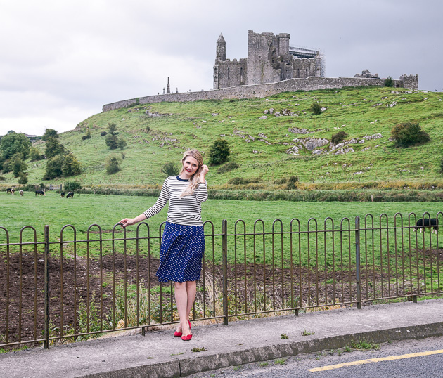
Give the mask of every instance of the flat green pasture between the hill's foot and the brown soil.
<svg viewBox="0 0 443 378">
<path fill-rule="evenodd" d="M 112 195 L 76 195 L 73 200 L 60 198 L 57 193 L 49 192 L 44 197 L 34 197 L 33 193 L 25 193 L 23 197 L 18 195 L 6 195 L 1 193 L 0 203 L 2 208 L 2 217 L 0 226 L 5 227 L 8 230 L 10 241 L 18 242 L 20 229 L 24 226 L 32 226 L 37 230 L 37 240 L 43 240 L 44 225 L 49 225 L 51 241 L 60 241 L 60 230 L 63 226 L 70 224 L 76 229 L 77 240 L 86 240 L 86 233 L 90 225 L 98 224 L 103 231 L 103 238 L 110 239 L 110 231 L 113 229 L 115 223 L 125 217 L 134 217 L 152 204 L 155 203 L 155 197 L 125 197 L 125 196 L 112 196 Z M 372 214 L 374 217 L 374 227 L 380 226 L 380 214 L 386 214 L 388 219 L 388 225 L 392 227 L 394 225 L 394 215 L 399 213 L 403 216 L 404 226 L 408 226 L 409 213 L 413 212 L 417 216 L 422 216 L 423 212 L 428 211 L 432 217 L 435 217 L 439 211 L 442 210 L 442 206 L 439 203 L 423 203 L 423 202 L 397 202 L 397 203 L 380 203 L 380 202 L 284 202 L 284 201 L 267 201 L 267 202 L 255 202 L 255 201 L 231 201 L 231 200 L 209 200 L 203 204 L 203 220 L 211 221 L 214 224 L 214 233 L 219 235 L 221 233 L 221 221 L 226 219 L 228 221 L 228 233 L 234 233 L 234 227 L 236 221 L 239 219 L 245 222 L 246 233 L 250 234 L 254 232 L 254 223 L 257 219 L 261 219 L 264 222 L 265 233 L 271 233 L 273 223 L 276 219 L 280 219 L 283 223 L 283 232 L 290 231 L 290 222 L 292 219 L 298 219 L 300 221 L 300 234 L 301 238 L 301 252 L 302 256 L 306 257 L 308 252 L 308 244 L 312 253 L 319 254 L 319 262 L 324 263 L 323 254 L 325 250 L 325 243 L 323 240 L 323 234 L 318 234 L 317 239 L 314 234 L 307 236 L 305 233 L 308 230 L 340 230 L 340 223 L 342 223 L 342 229 L 347 230 L 349 226 L 354 228 L 355 217 L 361 217 L 361 228 L 364 227 L 364 217 L 366 214 Z M 150 236 L 158 237 L 160 223 L 166 220 L 167 209 L 163 209 L 160 214 L 148 220 L 150 226 Z M 325 221 L 328 218 L 327 221 Z M 316 220 L 316 223 L 314 221 Z M 349 219 L 349 221 L 348 221 Z M 413 221 L 412 221 L 413 223 Z M 443 223 L 442 216 L 439 216 L 439 223 Z M 325 226 L 326 224 L 326 226 Z M 334 225 L 334 226 L 332 226 Z M 386 226 L 386 217 L 382 216 L 381 225 L 383 228 Z M 400 226 L 399 215 L 397 215 L 397 226 Z M 317 228 L 316 228 L 317 227 Z M 371 222 L 368 220 L 368 227 L 371 227 Z M 91 240 L 97 239 L 96 231 L 98 228 L 91 228 L 93 233 L 90 234 Z M 120 228 L 118 233 L 115 234 L 116 238 L 122 237 Z M 131 226 L 127 229 L 127 237 L 135 236 L 136 226 Z M 274 231 L 276 233 L 281 232 L 281 223 L 276 221 Z M 297 223 L 294 223 L 293 231 L 297 231 Z M 259 221 L 256 226 L 255 233 L 262 233 L 262 222 Z M 397 237 L 400 237 L 401 229 L 397 230 Z M 95 232 L 95 233 L 94 233 Z M 243 233 L 243 223 L 238 222 L 237 234 Z M 411 232 L 412 237 L 415 240 L 416 234 L 412 230 L 404 229 L 404 238 L 407 237 L 408 232 Z M 205 226 L 205 233 L 207 235 L 212 234 L 212 228 L 210 224 Z M 146 227 L 142 227 L 140 231 L 141 236 L 146 235 Z M 329 234 L 330 235 L 330 234 Z M 422 243 L 421 237 L 418 237 L 418 245 Z M 429 245 L 429 233 L 426 234 L 425 245 Z M 349 239 L 350 236 L 350 239 Z M 262 236 L 257 235 L 255 244 L 257 246 L 257 261 L 263 261 L 265 259 L 267 263 L 272 263 L 272 251 L 276 256 L 283 254 L 285 261 L 290 260 L 290 235 L 283 235 L 283 249 L 281 248 L 281 235 L 274 235 L 274 242 L 272 242 L 272 235 L 265 237 L 265 256 L 263 256 L 263 243 Z M 293 235 L 293 254 L 297 251 L 297 235 Z M 340 237 L 342 240 L 340 241 Z M 362 232 L 361 238 L 364 235 Z M 382 249 L 387 248 L 387 242 L 390 242 L 390 248 L 394 249 L 394 231 L 389 232 L 382 230 L 375 231 L 375 240 L 369 240 L 368 246 L 375 247 L 380 246 L 378 238 L 382 238 Z M 3 230 L 0 231 L 0 242 L 5 242 L 6 233 Z M 33 233 L 29 228 L 23 231 L 23 242 L 32 242 Z M 67 228 L 63 233 L 63 240 L 73 240 L 73 233 L 71 228 Z M 238 261 L 244 259 L 244 249 L 246 249 L 246 260 L 251 262 L 253 259 L 253 247 L 254 237 L 248 235 L 246 238 L 246 244 L 244 244 L 243 236 L 237 237 L 237 250 Z M 406 240 L 406 239 L 405 239 Z M 431 244 L 436 242 L 435 236 L 432 237 Z M 135 245 L 134 241 L 128 242 L 128 251 L 134 253 Z M 337 244 L 338 243 L 338 244 Z M 338 247 L 342 243 L 347 249 L 354 251 L 354 232 L 351 233 L 335 233 L 335 253 L 338 253 Z M 351 243 L 351 244 L 349 244 Z M 332 253 L 332 245 L 330 236 L 326 242 L 326 249 L 328 250 L 328 256 Z M 246 247 L 245 247 L 246 246 Z M 273 248 L 274 246 L 274 248 Z M 65 245 L 68 251 L 72 252 L 72 247 Z M 379 248 L 379 247 L 378 247 Z M 399 248 L 399 247 L 398 247 Z M 397 249 L 398 249 L 397 248 Z M 2 247 L 4 250 L 4 247 Z M 51 250 L 53 253 L 58 253 L 60 249 L 59 245 L 53 245 Z M 85 243 L 81 243 L 77 247 L 77 253 L 85 254 Z M 151 242 L 151 249 L 154 256 L 158 256 L 158 239 L 154 239 Z M 370 248 L 371 249 L 371 248 Z M 13 250 L 15 250 L 13 248 Z M 122 252 L 122 242 L 117 242 L 117 252 Z M 112 252 L 111 243 L 105 243 L 103 248 L 104 253 Z M 229 237 L 229 261 L 233 262 L 235 245 L 234 237 Z M 320 252 L 320 253 L 319 253 Z M 98 242 L 91 242 L 90 253 L 92 256 L 98 254 Z M 141 253 L 146 253 L 146 248 L 141 248 Z M 297 252 L 298 254 L 298 252 Z M 352 252 L 354 254 L 354 252 Z M 212 247 L 212 237 L 207 237 L 207 259 L 214 259 L 219 263 L 221 261 L 221 237 L 214 237 L 214 247 Z M 328 256 L 326 259 L 329 260 Z M 332 255 L 330 255 L 332 256 Z M 347 256 L 341 257 L 344 261 L 349 261 Z M 351 259 L 352 260 L 352 259 Z M 306 262 L 305 262 L 306 263 Z"/>
</svg>

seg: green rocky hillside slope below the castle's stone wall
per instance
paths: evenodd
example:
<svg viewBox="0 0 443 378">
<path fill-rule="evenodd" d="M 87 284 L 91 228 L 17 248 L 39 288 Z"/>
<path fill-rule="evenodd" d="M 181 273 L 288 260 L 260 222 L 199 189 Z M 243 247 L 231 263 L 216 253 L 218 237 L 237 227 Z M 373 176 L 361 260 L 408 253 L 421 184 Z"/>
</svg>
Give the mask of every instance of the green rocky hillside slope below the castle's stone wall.
<svg viewBox="0 0 443 378">
<path fill-rule="evenodd" d="M 233 177 L 259 178 L 258 184 L 249 186 L 272 188 L 274 181 L 291 175 L 299 176 L 304 187 L 328 184 L 351 188 L 353 183 L 377 183 L 378 188 L 383 188 L 385 181 L 415 187 L 432 181 L 442 186 L 442 100 L 443 93 L 363 87 L 281 93 L 252 100 L 135 105 L 89 117 L 75 130 L 60 134 L 60 142 L 84 168 L 83 174 L 68 180 L 85 186 L 143 188 L 162 183 L 165 162 L 179 162 L 188 148 L 198 148 L 207 155 L 212 141 L 220 136 L 229 141 L 230 161 L 240 167 L 226 173 L 218 173 L 219 167 L 210 167 L 208 180 L 218 188 L 228 187 L 226 183 Z M 314 102 L 326 108 L 321 115 L 309 110 Z M 409 121 L 420 123 L 430 135 L 430 143 L 394 148 L 389 140 L 392 127 Z M 119 136 L 127 140 L 122 151 L 109 150 L 105 136 L 101 136 L 112 122 L 117 124 Z M 86 129 L 91 131 L 91 138 L 82 141 Z M 346 144 L 331 150 L 330 139 L 338 131 L 348 134 Z M 326 144 L 308 150 L 305 138 L 313 138 L 314 142 L 322 139 Z M 287 152 L 294 146 L 300 148 L 299 155 Z M 37 143 L 37 147 L 43 151 L 44 143 Z M 106 174 L 106 157 L 121 152 L 121 171 Z M 27 164 L 29 183 L 44 182 L 46 162 Z M 4 183 L 15 180 L 7 174 Z"/>
</svg>

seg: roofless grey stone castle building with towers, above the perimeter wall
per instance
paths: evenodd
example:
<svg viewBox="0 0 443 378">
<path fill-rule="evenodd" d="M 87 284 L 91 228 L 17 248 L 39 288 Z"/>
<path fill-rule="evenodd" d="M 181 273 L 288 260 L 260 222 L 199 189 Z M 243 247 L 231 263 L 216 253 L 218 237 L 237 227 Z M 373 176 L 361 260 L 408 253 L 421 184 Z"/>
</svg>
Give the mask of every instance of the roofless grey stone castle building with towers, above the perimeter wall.
<svg viewBox="0 0 443 378">
<path fill-rule="evenodd" d="M 319 50 L 289 46 L 290 35 L 248 31 L 248 58 L 226 59 L 223 34 L 217 40 L 214 89 L 325 76 Z"/>
</svg>

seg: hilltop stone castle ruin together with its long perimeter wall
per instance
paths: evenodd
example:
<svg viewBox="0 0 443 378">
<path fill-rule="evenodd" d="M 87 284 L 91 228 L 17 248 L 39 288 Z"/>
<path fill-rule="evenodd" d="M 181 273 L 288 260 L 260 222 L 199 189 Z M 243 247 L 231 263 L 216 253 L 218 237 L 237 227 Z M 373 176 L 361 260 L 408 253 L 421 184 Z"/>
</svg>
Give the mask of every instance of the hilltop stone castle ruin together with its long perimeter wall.
<svg viewBox="0 0 443 378">
<path fill-rule="evenodd" d="M 282 92 L 334 89 L 343 86 L 383 86 L 385 79 L 364 70 L 354 77 L 324 77 L 325 59 L 319 50 L 289 46 L 289 34 L 248 32 L 248 58 L 226 59 L 226 42 L 220 34 L 214 65 L 214 89 L 170 92 L 169 77 L 163 94 L 131 98 L 103 105 L 103 112 L 133 105 L 196 100 L 263 98 Z M 418 75 L 392 80 L 397 88 L 418 89 Z M 263 116 L 266 117 L 266 116 Z"/>
</svg>

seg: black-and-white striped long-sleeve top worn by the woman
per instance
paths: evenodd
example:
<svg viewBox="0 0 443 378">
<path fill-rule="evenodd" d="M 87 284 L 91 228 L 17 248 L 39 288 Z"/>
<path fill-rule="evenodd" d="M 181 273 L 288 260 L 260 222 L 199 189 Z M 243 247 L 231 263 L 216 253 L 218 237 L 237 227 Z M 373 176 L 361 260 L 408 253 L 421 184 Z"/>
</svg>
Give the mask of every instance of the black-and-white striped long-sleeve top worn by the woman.
<svg viewBox="0 0 443 378">
<path fill-rule="evenodd" d="M 207 200 L 207 182 L 198 184 L 192 195 L 179 197 L 188 185 L 188 180 L 179 176 L 169 176 L 163 183 L 157 202 L 143 212 L 146 218 L 158 214 L 169 201 L 167 219 L 169 223 L 184 224 L 186 226 L 203 226 L 202 202 Z"/>
</svg>

